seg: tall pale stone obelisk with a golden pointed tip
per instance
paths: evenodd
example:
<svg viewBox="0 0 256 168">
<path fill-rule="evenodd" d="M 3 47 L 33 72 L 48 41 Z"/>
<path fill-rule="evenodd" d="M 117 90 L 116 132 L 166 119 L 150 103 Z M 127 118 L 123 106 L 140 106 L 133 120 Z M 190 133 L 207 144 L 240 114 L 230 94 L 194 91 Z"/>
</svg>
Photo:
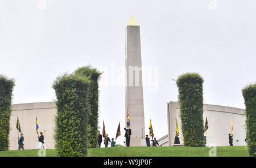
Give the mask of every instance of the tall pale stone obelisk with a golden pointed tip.
<svg viewBox="0 0 256 168">
<path fill-rule="evenodd" d="M 142 87 L 141 36 L 137 21 L 131 16 L 126 27 L 126 94 L 125 116 L 127 109 L 130 117 L 130 147 L 140 147 L 145 138 L 144 107 Z M 126 119 L 125 119 L 126 123 Z"/>
</svg>

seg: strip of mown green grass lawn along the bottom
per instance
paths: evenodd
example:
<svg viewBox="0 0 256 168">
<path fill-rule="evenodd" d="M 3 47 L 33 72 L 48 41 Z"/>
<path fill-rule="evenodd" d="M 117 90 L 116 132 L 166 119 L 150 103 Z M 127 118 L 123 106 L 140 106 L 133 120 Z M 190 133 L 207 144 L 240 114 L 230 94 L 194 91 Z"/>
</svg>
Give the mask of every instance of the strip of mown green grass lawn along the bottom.
<svg viewBox="0 0 256 168">
<path fill-rule="evenodd" d="M 249 156 L 245 146 L 217 147 L 217 156 Z M 208 147 L 116 147 L 88 149 L 88 156 L 208 156 Z M 38 149 L 0 151 L 1 156 L 38 156 Z M 46 156 L 57 156 L 55 149 L 47 149 Z"/>
</svg>

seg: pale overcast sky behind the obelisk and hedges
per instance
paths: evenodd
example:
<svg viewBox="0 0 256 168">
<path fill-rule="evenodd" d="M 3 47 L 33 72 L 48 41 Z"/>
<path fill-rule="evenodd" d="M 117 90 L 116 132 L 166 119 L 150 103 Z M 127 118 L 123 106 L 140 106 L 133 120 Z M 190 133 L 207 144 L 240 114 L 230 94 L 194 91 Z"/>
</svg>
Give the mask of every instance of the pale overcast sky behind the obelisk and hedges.
<svg viewBox="0 0 256 168">
<path fill-rule="evenodd" d="M 256 1 L 0 1 L 0 74 L 15 79 L 14 104 L 53 101 L 63 72 L 92 64 L 105 70 L 100 130 L 125 126 L 125 28 L 141 25 L 146 134 L 167 135 L 167 102 L 177 76 L 204 78 L 204 104 L 245 108 L 241 89 L 256 79 Z M 152 69 L 152 82 L 146 74 Z M 150 76 L 150 75 L 149 75 Z M 120 82 L 121 80 L 121 82 Z M 102 82 L 104 81 L 104 82 Z M 122 136 L 117 143 L 123 144 Z"/>
</svg>

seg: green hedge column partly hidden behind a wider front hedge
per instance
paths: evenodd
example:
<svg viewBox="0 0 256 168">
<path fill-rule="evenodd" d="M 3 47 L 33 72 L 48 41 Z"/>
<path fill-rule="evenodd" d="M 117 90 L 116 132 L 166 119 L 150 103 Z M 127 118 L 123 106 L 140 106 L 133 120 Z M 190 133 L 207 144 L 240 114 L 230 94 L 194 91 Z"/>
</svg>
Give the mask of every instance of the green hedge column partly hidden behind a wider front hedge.
<svg viewBox="0 0 256 168">
<path fill-rule="evenodd" d="M 88 91 L 88 148 L 97 148 L 98 141 L 98 77 L 101 72 L 91 66 L 84 66 L 75 71 L 77 75 L 84 75 L 90 79 L 90 87 Z"/>
</svg>

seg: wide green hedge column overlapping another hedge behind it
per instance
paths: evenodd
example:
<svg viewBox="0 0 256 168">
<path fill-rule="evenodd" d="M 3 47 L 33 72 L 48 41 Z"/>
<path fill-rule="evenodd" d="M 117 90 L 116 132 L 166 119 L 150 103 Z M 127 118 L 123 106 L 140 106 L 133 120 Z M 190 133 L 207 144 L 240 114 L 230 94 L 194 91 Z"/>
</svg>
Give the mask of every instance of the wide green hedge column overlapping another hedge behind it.
<svg viewBox="0 0 256 168">
<path fill-rule="evenodd" d="M 59 156 L 86 156 L 89 79 L 85 76 L 57 77 L 55 148 Z"/>
</svg>

